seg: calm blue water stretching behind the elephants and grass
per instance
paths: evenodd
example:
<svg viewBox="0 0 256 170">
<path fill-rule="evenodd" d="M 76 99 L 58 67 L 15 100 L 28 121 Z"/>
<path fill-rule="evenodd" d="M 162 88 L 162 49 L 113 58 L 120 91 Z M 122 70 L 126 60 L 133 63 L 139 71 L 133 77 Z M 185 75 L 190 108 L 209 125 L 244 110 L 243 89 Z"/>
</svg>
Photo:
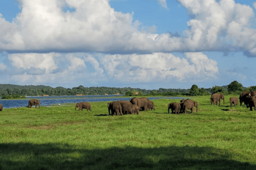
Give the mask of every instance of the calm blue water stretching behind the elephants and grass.
<svg viewBox="0 0 256 170">
<path fill-rule="evenodd" d="M 119 95 L 121 96 L 121 95 Z M 115 97 L 115 98 L 110 98 Z M 3 105 L 4 108 L 11 108 L 11 107 L 26 107 L 28 106 L 29 99 L 37 99 L 40 100 L 40 106 L 51 106 L 51 105 L 61 105 L 67 103 L 80 103 L 82 101 L 87 102 L 95 102 L 95 101 L 118 101 L 118 100 L 130 100 L 130 97 L 126 98 L 119 98 L 115 95 L 108 95 L 108 96 L 49 96 L 49 97 L 27 97 L 27 99 L 23 100 L 0 100 L 0 103 Z M 148 97 L 149 100 L 153 99 L 181 99 L 180 97 Z"/>
</svg>

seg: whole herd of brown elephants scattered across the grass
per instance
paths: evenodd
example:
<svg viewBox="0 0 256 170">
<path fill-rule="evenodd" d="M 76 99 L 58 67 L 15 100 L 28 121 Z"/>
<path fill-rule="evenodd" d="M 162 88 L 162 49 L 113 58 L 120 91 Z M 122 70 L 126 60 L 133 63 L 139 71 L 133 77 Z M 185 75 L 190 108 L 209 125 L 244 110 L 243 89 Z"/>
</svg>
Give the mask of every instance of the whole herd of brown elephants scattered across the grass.
<svg viewBox="0 0 256 170">
<path fill-rule="evenodd" d="M 212 94 L 210 101 L 211 105 L 218 105 L 220 106 L 220 101 L 223 100 L 223 105 L 225 105 L 225 97 L 223 94 L 214 93 Z M 230 107 L 233 105 L 236 106 L 238 104 L 238 98 L 237 97 L 230 97 Z M 247 108 L 250 107 L 250 111 L 252 111 L 252 107 L 254 107 L 254 111 L 256 111 L 256 91 L 245 91 L 242 92 L 239 96 L 240 106 L 244 103 Z M 40 101 L 37 99 L 30 99 L 28 102 L 28 107 L 31 108 L 31 106 L 35 105 L 37 108 L 37 105 L 40 108 Z M 77 103 L 75 106 L 76 108 L 79 107 L 78 111 L 83 111 L 83 109 L 87 109 L 87 111 L 92 111 L 91 105 L 87 102 L 81 102 Z M 168 113 L 170 113 L 170 109 L 172 113 L 179 114 L 179 113 L 187 113 L 187 109 L 191 110 L 191 113 L 194 112 L 194 107 L 196 107 L 196 112 L 198 111 L 198 103 L 197 101 L 193 101 L 191 99 L 182 99 L 180 100 L 180 103 L 174 102 L 168 104 Z M 150 109 L 154 109 L 155 111 L 155 105 L 153 101 L 150 101 L 147 97 L 141 97 L 141 98 L 132 98 L 130 101 L 126 100 L 119 100 L 119 101 L 112 101 L 111 103 L 108 103 L 108 113 L 109 115 L 117 115 L 119 116 L 124 114 L 139 114 L 140 111 L 148 111 Z M 0 111 L 3 111 L 3 105 L 0 104 Z M 111 111 L 111 114 L 110 114 Z"/>
</svg>

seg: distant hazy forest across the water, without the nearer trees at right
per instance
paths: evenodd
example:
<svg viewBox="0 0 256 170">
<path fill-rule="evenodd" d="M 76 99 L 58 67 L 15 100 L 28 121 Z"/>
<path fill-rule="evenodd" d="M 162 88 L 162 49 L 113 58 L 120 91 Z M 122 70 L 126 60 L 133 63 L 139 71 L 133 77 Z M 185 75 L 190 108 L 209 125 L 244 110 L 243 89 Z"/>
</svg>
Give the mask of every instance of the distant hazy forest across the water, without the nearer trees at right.
<svg viewBox="0 0 256 170">
<path fill-rule="evenodd" d="M 209 95 L 212 92 L 212 88 L 203 89 L 204 95 Z M 227 90 L 227 86 L 222 86 L 221 89 L 223 91 Z M 127 92 L 135 92 L 138 91 L 141 95 L 166 95 L 166 96 L 178 96 L 178 95 L 189 95 L 190 89 L 154 89 L 154 90 L 146 90 L 139 88 L 114 88 L 114 87 L 83 87 L 82 85 L 79 87 L 63 88 L 56 87 L 52 88 L 50 86 L 37 85 L 37 86 L 19 86 L 14 84 L 0 84 L 0 95 L 21 95 L 21 96 L 64 96 L 64 95 L 125 95 Z"/>
</svg>

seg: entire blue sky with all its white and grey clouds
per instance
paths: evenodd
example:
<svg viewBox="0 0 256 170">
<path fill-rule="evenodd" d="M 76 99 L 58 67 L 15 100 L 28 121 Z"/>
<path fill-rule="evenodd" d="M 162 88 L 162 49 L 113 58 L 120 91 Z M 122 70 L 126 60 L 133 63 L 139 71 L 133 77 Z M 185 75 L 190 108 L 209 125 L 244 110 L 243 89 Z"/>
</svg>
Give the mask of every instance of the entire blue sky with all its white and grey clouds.
<svg viewBox="0 0 256 170">
<path fill-rule="evenodd" d="M 0 83 L 256 86 L 254 0 L 3 0 Z"/>
</svg>

